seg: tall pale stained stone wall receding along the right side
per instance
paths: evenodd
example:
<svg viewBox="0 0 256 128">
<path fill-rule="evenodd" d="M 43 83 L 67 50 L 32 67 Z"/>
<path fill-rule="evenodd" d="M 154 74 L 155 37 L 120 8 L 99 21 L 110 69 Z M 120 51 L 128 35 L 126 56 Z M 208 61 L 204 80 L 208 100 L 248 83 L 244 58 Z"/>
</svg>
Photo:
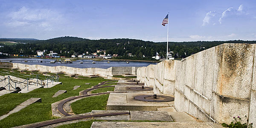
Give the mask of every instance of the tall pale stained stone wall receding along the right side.
<svg viewBox="0 0 256 128">
<path fill-rule="evenodd" d="M 256 124 L 255 47 L 218 45 L 181 61 L 138 68 L 137 79 L 153 86 L 154 93 L 175 95 L 175 109 L 200 120 L 230 123 L 246 115 Z"/>
</svg>

